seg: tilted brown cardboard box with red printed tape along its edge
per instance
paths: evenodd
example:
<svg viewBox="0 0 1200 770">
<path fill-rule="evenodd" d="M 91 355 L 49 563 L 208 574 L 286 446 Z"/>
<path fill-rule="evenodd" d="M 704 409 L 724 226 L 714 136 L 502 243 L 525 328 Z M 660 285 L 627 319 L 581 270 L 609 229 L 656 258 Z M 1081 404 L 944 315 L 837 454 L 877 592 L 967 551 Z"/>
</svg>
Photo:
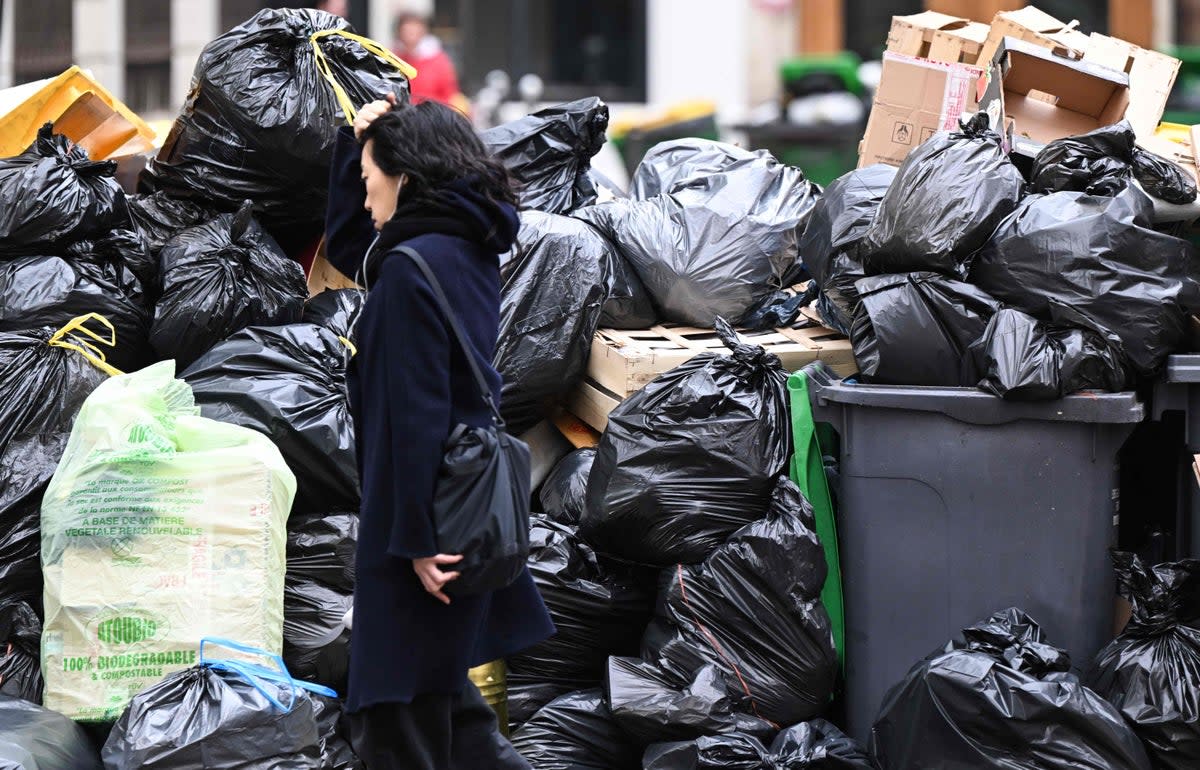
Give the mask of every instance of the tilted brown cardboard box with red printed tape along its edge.
<svg viewBox="0 0 1200 770">
<path fill-rule="evenodd" d="M 977 109 L 983 74 L 972 65 L 884 53 L 858 167 L 900 166 L 913 148 L 955 128 L 964 113 Z"/>
</svg>

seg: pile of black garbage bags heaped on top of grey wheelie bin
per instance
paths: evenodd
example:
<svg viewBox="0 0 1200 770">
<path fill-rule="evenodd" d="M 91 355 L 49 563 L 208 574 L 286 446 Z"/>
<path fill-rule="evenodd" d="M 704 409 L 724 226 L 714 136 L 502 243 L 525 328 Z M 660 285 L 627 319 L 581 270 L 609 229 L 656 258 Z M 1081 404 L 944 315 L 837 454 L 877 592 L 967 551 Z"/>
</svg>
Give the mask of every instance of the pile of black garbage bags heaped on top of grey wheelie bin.
<svg viewBox="0 0 1200 770">
<path fill-rule="evenodd" d="M 1157 374 L 1200 309 L 1198 254 L 1154 229 L 1147 194 L 1195 190 L 1123 121 L 1048 144 L 1026 180 L 977 114 L 894 173 L 833 182 L 800 254 L 863 381 L 1116 391 Z"/>
</svg>

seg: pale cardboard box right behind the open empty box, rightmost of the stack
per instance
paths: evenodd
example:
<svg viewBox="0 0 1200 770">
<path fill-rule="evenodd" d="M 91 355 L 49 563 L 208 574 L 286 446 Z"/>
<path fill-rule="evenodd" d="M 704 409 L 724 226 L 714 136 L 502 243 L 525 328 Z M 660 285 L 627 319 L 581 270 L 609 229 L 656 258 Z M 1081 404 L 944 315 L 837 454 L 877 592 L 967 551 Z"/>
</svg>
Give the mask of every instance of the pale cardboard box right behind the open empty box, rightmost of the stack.
<svg viewBox="0 0 1200 770">
<path fill-rule="evenodd" d="M 1175 78 L 1180 74 L 1180 60 L 1116 37 L 1093 34 L 1084 61 L 1120 70 L 1129 76 L 1129 109 L 1126 110 L 1126 119 L 1139 140 L 1154 136 L 1166 109 L 1166 100 L 1175 86 Z"/>
</svg>

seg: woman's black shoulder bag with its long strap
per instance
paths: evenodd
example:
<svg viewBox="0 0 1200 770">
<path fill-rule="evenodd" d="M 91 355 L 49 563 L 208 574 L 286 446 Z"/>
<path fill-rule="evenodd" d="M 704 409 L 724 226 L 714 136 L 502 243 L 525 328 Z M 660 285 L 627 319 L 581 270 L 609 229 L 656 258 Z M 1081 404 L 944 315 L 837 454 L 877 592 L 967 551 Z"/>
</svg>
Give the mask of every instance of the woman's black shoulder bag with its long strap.
<svg viewBox="0 0 1200 770">
<path fill-rule="evenodd" d="M 433 288 L 442 314 L 479 384 L 492 425 L 455 427 L 444 447 L 433 493 L 433 529 L 439 553 L 462 554 L 445 567 L 458 572 L 446 583 L 451 596 L 486 594 L 514 583 L 529 558 L 529 447 L 504 429 L 475 353 L 446 301 L 442 284 L 420 254 L 402 247 Z"/>
</svg>

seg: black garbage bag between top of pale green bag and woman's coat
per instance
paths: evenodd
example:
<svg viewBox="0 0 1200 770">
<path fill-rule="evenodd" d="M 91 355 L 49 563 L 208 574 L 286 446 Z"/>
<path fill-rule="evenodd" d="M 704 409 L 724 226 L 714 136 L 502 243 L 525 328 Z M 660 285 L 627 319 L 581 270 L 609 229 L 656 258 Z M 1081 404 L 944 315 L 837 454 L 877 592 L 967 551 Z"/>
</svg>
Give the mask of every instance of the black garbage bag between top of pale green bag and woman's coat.
<svg viewBox="0 0 1200 770">
<path fill-rule="evenodd" d="M 253 428 L 280 447 L 296 475 L 293 511 L 356 510 L 349 357 L 324 326 L 257 326 L 216 344 L 179 377 L 204 416 Z"/>
</svg>

